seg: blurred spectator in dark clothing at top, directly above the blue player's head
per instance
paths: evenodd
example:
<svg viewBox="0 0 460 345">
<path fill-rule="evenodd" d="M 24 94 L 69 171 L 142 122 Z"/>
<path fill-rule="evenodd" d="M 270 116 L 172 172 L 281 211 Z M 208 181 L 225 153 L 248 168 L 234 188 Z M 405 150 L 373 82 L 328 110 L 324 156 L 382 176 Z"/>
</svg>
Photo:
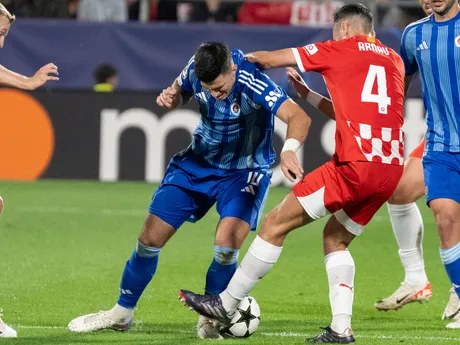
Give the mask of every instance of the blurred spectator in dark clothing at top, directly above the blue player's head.
<svg viewBox="0 0 460 345">
<path fill-rule="evenodd" d="M 190 21 L 235 23 L 240 7 L 241 2 L 235 1 L 205 0 L 194 2 Z"/>
</svg>

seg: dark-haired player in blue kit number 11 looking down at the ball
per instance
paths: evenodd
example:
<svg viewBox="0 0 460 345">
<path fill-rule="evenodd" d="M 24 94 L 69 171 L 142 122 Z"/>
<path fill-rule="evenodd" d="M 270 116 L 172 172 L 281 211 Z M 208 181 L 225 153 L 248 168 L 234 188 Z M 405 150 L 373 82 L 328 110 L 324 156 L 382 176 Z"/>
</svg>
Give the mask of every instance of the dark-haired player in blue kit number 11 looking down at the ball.
<svg viewBox="0 0 460 345">
<path fill-rule="evenodd" d="M 220 221 L 205 292 L 219 294 L 237 268 L 239 249 L 255 230 L 270 185 L 274 116 L 287 123 L 281 153 L 284 174 L 303 174 L 295 151 L 304 142 L 311 120 L 280 87 L 239 50 L 222 43 L 200 46 L 157 103 L 174 109 L 194 97 L 201 121 L 189 148 L 175 155 L 150 204 L 142 233 L 123 272 L 120 297 L 109 311 L 78 317 L 74 332 L 103 328 L 127 330 L 133 309 L 155 274 L 161 248 L 186 221 L 195 222 L 216 204 Z M 219 338 L 214 324 L 198 321 L 198 335 Z"/>
</svg>

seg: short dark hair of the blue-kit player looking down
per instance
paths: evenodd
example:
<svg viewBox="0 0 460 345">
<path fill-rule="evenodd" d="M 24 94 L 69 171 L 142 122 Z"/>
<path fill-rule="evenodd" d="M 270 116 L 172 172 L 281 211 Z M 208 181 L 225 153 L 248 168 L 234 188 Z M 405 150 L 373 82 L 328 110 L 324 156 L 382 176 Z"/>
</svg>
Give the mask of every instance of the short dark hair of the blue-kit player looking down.
<svg viewBox="0 0 460 345">
<path fill-rule="evenodd" d="M 203 43 L 195 53 L 195 75 L 205 83 L 211 83 L 232 66 L 230 48 L 220 42 Z"/>
</svg>

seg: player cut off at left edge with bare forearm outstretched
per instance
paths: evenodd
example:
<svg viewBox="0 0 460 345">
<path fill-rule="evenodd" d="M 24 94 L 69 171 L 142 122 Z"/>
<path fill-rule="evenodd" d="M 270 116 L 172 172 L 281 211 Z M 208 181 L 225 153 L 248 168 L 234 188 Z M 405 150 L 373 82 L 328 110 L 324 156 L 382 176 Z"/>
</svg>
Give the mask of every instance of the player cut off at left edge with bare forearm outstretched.
<svg viewBox="0 0 460 345">
<path fill-rule="evenodd" d="M 0 4 L 0 48 L 3 48 L 5 37 L 8 35 L 11 24 L 13 24 L 15 19 L 15 16 L 12 15 L 5 6 Z M 12 72 L 0 65 L 0 84 L 23 90 L 35 90 L 48 80 L 58 80 L 59 78 L 56 77 L 57 74 L 57 67 L 52 63 L 40 68 L 31 78 Z M 3 199 L 0 197 L 0 215 L 3 211 L 3 206 Z M 0 314 L 0 316 L 2 315 Z M 15 338 L 16 336 L 16 331 L 6 325 L 0 318 L 0 338 Z"/>
</svg>

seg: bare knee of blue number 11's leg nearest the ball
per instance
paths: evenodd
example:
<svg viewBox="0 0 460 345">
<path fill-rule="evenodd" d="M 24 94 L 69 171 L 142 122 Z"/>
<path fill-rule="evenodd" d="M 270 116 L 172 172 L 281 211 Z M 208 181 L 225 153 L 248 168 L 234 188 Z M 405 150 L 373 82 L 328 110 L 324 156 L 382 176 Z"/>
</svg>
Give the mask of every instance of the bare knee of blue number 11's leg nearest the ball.
<svg viewBox="0 0 460 345">
<path fill-rule="evenodd" d="M 217 225 L 214 244 L 216 246 L 240 249 L 251 226 L 245 220 L 236 217 L 225 217 Z"/>
</svg>

